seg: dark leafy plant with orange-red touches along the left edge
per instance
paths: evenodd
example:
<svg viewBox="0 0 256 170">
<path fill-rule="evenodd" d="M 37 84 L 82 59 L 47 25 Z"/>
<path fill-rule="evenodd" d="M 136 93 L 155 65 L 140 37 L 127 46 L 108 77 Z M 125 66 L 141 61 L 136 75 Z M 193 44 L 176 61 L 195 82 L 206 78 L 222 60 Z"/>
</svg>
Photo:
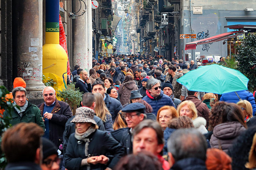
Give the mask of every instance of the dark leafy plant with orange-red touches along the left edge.
<svg viewBox="0 0 256 170">
<path fill-rule="evenodd" d="M 8 113 L 13 109 L 14 104 L 12 103 L 12 99 L 6 98 L 6 94 L 8 94 L 8 90 L 4 86 L 0 86 L 0 106 L 1 109 L 6 110 Z M 0 116 L 0 143 L 2 143 L 2 134 L 10 127 L 9 118 L 3 118 Z M 6 157 L 0 148 L 0 169 L 4 168 L 7 164 Z"/>
</svg>

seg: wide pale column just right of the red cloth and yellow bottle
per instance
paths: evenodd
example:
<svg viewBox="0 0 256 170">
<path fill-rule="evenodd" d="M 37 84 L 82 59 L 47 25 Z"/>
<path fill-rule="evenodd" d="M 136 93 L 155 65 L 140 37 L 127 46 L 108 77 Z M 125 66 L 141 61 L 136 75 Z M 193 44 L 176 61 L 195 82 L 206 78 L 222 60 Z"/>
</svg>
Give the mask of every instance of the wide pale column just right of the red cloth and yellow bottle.
<svg viewBox="0 0 256 170">
<path fill-rule="evenodd" d="M 82 10 L 85 9 L 84 3 L 78 14 L 80 15 Z M 78 0 L 72 1 L 72 11 L 77 12 L 80 9 L 80 2 Z M 72 19 L 72 32 L 73 32 L 73 66 L 79 65 L 83 70 L 88 68 L 87 66 L 87 32 L 86 32 L 86 12 L 84 15 L 79 16 L 76 19 Z"/>
</svg>

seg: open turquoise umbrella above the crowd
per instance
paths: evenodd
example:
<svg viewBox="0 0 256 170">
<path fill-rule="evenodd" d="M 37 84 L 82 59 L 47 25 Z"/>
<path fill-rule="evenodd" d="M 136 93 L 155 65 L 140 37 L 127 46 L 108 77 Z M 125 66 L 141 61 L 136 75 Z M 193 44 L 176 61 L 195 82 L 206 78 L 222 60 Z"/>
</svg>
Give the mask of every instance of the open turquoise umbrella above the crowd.
<svg viewBox="0 0 256 170">
<path fill-rule="evenodd" d="M 249 79 L 238 70 L 218 64 L 200 66 L 177 79 L 177 82 L 188 90 L 216 94 L 248 90 L 248 81 Z"/>
</svg>

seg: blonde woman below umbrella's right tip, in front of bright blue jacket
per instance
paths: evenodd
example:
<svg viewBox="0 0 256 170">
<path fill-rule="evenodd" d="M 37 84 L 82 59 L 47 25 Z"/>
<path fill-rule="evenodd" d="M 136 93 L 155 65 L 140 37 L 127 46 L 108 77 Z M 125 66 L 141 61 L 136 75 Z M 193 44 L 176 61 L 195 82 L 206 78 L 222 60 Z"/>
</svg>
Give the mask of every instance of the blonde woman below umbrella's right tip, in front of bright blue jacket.
<svg viewBox="0 0 256 170">
<path fill-rule="evenodd" d="M 252 104 L 247 100 L 241 100 L 236 104 L 242 109 L 246 125 L 248 127 L 255 125 L 256 119 L 252 116 Z"/>
</svg>

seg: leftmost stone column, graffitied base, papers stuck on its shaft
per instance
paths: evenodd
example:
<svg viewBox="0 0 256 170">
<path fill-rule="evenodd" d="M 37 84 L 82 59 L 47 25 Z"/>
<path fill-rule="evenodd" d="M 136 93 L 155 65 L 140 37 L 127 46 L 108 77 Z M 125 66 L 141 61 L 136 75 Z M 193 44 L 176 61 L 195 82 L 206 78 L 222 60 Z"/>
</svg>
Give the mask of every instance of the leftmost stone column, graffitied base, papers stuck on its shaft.
<svg viewBox="0 0 256 170">
<path fill-rule="evenodd" d="M 25 80 L 28 99 L 42 100 L 42 0 L 16 3 L 24 7 L 17 11 L 17 77 Z"/>
</svg>

